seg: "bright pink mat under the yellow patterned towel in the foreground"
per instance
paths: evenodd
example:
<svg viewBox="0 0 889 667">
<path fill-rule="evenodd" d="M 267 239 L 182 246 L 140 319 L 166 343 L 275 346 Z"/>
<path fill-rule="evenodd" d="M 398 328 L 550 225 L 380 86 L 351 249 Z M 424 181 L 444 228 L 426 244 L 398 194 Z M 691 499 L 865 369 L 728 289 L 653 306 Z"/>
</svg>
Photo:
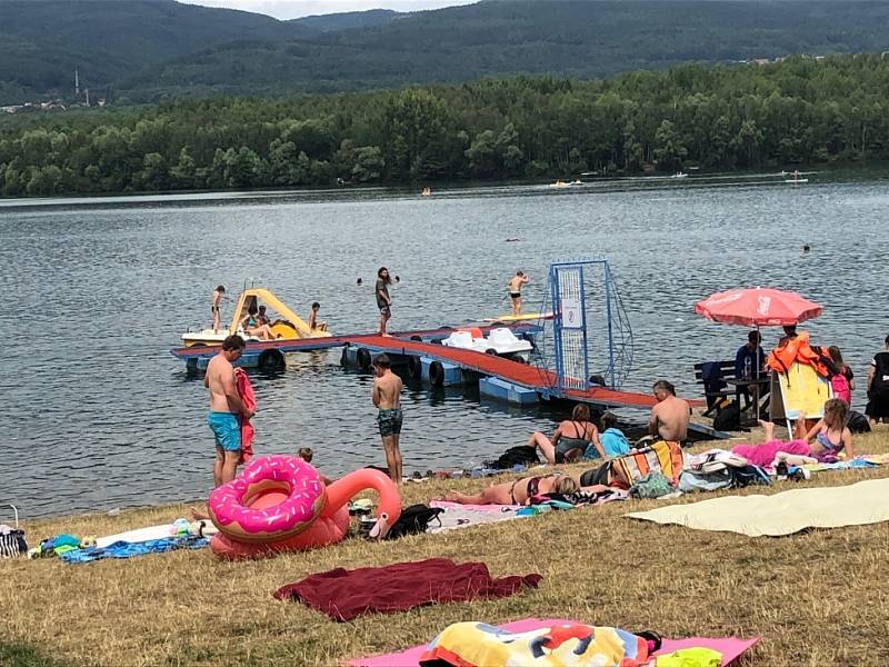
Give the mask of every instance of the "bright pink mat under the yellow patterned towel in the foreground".
<svg viewBox="0 0 889 667">
<path fill-rule="evenodd" d="M 578 623 L 567 618 L 523 618 L 512 623 L 502 624 L 498 627 L 512 633 L 527 633 L 540 628 L 556 625 Z M 431 638 L 430 638 L 431 640 Z M 749 650 L 759 637 L 752 639 L 736 639 L 735 637 L 689 637 L 687 639 L 665 639 L 660 650 L 655 655 L 665 655 L 681 648 L 712 648 L 722 654 L 721 666 L 730 665 L 737 660 L 745 651 Z M 369 658 L 356 658 L 346 663 L 350 667 L 418 667 L 420 656 L 423 655 L 426 645 L 414 646 L 407 650 L 373 656 Z"/>
</svg>

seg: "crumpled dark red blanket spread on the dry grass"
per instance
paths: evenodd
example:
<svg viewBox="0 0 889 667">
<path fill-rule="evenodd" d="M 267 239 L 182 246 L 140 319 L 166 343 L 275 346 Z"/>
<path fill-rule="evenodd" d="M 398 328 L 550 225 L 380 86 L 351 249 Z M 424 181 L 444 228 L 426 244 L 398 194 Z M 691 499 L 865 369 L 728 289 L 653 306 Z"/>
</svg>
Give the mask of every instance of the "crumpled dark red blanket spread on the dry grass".
<svg viewBox="0 0 889 667">
<path fill-rule="evenodd" d="M 386 567 L 332 569 L 274 591 L 279 600 L 302 600 L 334 620 L 372 611 L 403 611 L 433 603 L 498 598 L 523 587 L 537 588 L 540 575 L 493 579 L 483 563 L 457 565 L 447 558 L 397 563 Z"/>
</svg>

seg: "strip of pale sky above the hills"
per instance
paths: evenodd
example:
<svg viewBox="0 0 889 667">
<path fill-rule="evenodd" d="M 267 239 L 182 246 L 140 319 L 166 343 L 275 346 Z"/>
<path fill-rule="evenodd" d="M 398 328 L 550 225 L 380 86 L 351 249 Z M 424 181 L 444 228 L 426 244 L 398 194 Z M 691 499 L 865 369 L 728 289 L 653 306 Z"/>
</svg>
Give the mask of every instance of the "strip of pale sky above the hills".
<svg viewBox="0 0 889 667">
<path fill-rule="evenodd" d="M 179 0 L 188 4 L 223 7 L 264 13 L 276 19 L 297 19 L 312 14 L 337 13 L 341 11 L 363 11 L 368 9 L 394 9 L 396 11 L 419 11 L 440 9 L 456 4 L 471 4 L 478 0 Z"/>
</svg>

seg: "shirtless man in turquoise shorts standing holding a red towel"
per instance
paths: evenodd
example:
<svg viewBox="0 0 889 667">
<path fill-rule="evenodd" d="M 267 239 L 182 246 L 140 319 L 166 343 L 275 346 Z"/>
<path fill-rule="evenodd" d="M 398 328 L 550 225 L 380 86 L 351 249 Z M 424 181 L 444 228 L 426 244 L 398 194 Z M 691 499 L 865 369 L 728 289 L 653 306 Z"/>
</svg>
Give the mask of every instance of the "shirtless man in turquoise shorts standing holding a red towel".
<svg viewBox="0 0 889 667">
<path fill-rule="evenodd" d="M 253 414 L 241 402 L 234 385 L 234 367 L 231 365 L 243 352 L 243 338 L 229 336 L 222 341 L 222 351 L 210 359 L 203 386 L 210 390 L 210 414 L 207 422 L 216 438 L 213 462 L 213 487 L 234 479 L 234 470 L 241 458 L 241 427 L 238 416 L 250 419 Z"/>
</svg>

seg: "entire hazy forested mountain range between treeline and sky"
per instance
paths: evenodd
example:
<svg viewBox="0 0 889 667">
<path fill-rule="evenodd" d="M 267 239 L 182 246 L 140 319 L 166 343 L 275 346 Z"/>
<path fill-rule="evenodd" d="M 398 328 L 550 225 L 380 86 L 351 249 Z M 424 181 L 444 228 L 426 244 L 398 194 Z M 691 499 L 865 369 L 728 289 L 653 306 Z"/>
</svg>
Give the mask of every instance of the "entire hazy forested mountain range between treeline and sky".
<svg viewBox="0 0 889 667">
<path fill-rule="evenodd" d="M 485 0 L 384 19 L 276 21 L 172 0 L 0 0 L 0 103 L 70 90 L 74 64 L 123 104 L 889 50 L 889 2 L 871 0 Z"/>
</svg>

